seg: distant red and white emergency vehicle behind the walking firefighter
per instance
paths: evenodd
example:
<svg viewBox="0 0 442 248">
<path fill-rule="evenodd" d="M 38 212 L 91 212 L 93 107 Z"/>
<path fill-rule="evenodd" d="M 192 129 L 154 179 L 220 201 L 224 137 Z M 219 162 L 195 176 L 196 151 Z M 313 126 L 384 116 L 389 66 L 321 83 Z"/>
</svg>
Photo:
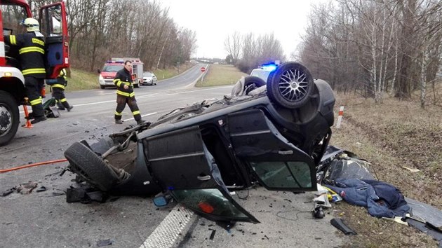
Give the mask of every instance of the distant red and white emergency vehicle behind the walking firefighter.
<svg viewBox="0 0 442 248">
<path fill-rule="evenodd" d="M 142 66 L 143 63 L 140 59 L 134 57 L 113 57 L 111 60 L 107 60 L 103 69 L 98 70 L 100 76 L 98 76 L 98 82 L 100 88 L 104 89 L 107 86 L 115 87 L 114 78 L 116 71 L 123 69 L 124 62 L 129 60 L 132 62 L 132 80 L 133 87 L 138 88 L 142 84 Z"/>
</svg>

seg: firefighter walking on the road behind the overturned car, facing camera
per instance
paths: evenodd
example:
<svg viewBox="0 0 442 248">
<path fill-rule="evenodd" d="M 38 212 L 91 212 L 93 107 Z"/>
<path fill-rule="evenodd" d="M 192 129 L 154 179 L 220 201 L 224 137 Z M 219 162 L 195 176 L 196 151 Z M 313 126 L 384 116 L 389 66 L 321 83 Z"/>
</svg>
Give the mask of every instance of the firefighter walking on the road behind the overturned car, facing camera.
<svg viewBox="0 0 442 248">
<path fill-rule="evenodd" d="M 133 118 L 135 118 L 137 124 L 144 122 L 144 120 L 141 119 L 140 109 L 138 109 L 137 100 L 135 99 L 135 92 L 133 92 L 131 72 L 132 62 L 126 60 L 124 62 L 124 68 L 117 71 L 114 78 L 114 84 L 116 85 L 116 109 L 114 116 L 116 124 L 123 124 L 123 121 L 121 121 L 121 113 L 126 104 L 129 105 L 130 111 L 132 111 Z"/>
</svg>

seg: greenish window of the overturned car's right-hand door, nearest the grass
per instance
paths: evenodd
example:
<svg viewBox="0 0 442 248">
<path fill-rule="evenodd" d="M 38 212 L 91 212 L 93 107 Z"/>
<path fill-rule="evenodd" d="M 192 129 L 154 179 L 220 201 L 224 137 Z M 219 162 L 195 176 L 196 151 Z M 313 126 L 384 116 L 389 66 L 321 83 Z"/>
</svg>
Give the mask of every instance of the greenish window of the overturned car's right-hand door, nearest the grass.
<svg viewBox="0 0 442 248">
<path fill-rule="evenodd" d="M 311 188 L 307 163 L 293 161 L 250 162 L 263 184 L 269 188 Z"/>
</svg>

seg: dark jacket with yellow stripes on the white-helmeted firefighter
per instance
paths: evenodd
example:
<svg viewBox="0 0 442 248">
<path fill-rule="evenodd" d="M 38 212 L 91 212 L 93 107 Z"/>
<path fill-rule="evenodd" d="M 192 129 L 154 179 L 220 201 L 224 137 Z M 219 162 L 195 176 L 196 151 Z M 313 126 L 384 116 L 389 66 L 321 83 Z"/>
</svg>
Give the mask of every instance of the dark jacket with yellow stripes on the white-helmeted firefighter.
<svg viewBox="0 0 442 248">
<path fill-rule="evenodd" d="M 23 76 L 46 78 L 43 37 L 34 32 L 4 36 L 4 42 L 18 48 Z"/>
</svg>

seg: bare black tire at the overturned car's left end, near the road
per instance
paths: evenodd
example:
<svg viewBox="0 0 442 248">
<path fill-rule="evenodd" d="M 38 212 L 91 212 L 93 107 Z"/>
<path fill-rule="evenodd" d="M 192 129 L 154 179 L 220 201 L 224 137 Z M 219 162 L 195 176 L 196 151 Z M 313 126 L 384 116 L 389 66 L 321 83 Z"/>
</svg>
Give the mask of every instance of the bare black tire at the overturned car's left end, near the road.
<svg viewBox="0 0 442 248">
<path fill-rule="evenodd" d="M 101 191 L 109 191 L 118 183 L 118 176 L 87 146 L 75 142 L 65 151 L 70 169 L 89 184 Z"/>
</svg>

